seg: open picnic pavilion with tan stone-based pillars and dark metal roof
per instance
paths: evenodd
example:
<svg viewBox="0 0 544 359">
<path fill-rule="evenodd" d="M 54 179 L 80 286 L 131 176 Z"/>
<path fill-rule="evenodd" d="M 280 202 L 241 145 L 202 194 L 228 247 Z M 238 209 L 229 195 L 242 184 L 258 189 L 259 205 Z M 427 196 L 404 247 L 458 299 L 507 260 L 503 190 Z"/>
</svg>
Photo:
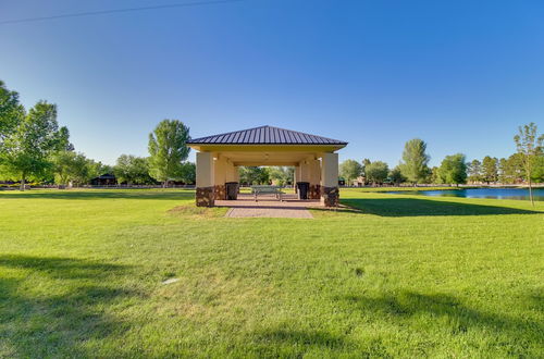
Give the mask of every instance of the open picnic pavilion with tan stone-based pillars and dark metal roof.
<svg viewBox="0 0 544 359">
<path fill-rule="evenodd" d="M 301 132 L 260 126 L 195 138 L 199 207 L 225 199 L 225 183 L 239 182 L 239 165 L 295 166 L 295 182 L 308 182 L 309 199 L 326 207 L 338 205 L 338 153 L 347 143 Z"/>
</svg>

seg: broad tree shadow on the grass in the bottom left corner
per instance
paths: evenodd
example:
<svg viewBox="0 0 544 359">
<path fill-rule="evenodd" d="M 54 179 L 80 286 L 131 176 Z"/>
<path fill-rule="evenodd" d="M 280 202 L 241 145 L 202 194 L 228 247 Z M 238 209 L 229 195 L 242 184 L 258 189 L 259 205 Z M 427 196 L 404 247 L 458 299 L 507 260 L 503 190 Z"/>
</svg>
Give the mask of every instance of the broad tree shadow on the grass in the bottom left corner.
<svg viewBox="0 0 544 359">
<path fill-rule="evenodd" d="M 127 322 L 107 314 L 104 306 L 140 296 L 108 285 L 112 275 L 127 270 L 124 265 L 72 258 L 0 256 L 0 272 L 2 268 L 25 270 L 28 276 L 26 281 L 5 274 L 0 277 L 0 337 L 4 341 L 0 356 L 92 356 L 85 349 L 85 342 L 128 329 Z"/>
</svg>

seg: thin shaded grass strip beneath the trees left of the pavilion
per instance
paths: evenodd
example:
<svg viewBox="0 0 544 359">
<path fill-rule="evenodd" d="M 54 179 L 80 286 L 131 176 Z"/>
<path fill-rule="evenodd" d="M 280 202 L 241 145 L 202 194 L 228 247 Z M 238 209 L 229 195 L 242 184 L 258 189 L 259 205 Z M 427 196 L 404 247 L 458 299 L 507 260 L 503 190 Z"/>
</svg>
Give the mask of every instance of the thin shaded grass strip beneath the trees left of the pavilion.
<svg viewBox="0 0 544 359">
<path fill-rule="evenodd" d="M 1 194 L 1 193 L 0 193 Z M 77 189 L 48 189 L 33 191 L 17 191 L 17 193 L 7 193 L 5 195 L 0 195 L 0 199 L 194 199 L 195 191 L 190 189 L 169 189 L 169 190 L 138 190 L 138 189 L 88 189 L 88 190 L 77 190 Z"/>
</svg>

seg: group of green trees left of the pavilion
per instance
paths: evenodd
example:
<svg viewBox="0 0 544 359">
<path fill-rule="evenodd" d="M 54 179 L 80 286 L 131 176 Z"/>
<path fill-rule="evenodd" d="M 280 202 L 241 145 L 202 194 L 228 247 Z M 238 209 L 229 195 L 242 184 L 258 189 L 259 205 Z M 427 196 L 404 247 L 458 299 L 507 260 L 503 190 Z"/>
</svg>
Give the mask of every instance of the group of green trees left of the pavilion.
<svg viewBox="0 0 544 359">
<path fill-rule="evenodd" d="M 18 94 L 0 81 L 0 181 L 59 186 L 86 185 L 103 174 L 129 185 L 171 182 L 195 183 L 195 164 L 187 162 L 189 128 L 177 120 L 164 120 L 149 135 L 149 157 L 122 154 L 107 165 L 77 152 L 70 132 L 59 126 L 57 106 L 37 102 L 26 110 Z"/>
</svg>

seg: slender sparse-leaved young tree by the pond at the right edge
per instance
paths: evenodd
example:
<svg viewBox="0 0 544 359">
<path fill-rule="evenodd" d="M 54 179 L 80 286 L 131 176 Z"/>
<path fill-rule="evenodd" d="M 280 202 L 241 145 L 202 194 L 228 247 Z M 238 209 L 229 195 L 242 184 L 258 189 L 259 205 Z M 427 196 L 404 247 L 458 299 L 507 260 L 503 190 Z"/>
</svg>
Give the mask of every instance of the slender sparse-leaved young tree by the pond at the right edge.
<svg viewBox="0 0 544 359">
<path fill-rule="evenodd" d="M 528 125 L 518 127 L 519 133 L 514 136 L 516 148 L 521 157 L 521 163 L 526 170 L 526 180 L 529 185 L 529 198 L 534 206 L 533 189 L 532 189 L 532 174 L 535 158 L 543 156 L 544 135 L 537 136 L 537 127 L 531 122 Z"/>
</svg>

